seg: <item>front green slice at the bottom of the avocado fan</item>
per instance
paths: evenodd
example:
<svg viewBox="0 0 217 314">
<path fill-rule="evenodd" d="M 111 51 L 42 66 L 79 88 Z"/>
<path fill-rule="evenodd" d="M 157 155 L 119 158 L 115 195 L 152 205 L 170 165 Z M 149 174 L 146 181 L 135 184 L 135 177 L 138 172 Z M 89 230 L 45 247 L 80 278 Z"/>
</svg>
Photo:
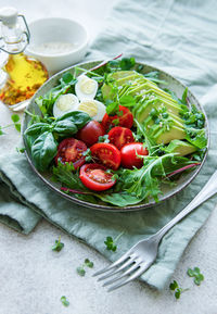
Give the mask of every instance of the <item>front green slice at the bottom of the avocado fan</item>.
<svg viewBox="0 0 217 314">
<path fill-rule="evenodd" d="M 184 129 L 173 125 L 169 130 L 165 130 L 158 127 L 158 130 L 155 131 L 154 135 L 152 135 L 156 143 L 168 143 L 173 139 L 184 139 L 186 138 L 186 131 Z"/>
</svg>

